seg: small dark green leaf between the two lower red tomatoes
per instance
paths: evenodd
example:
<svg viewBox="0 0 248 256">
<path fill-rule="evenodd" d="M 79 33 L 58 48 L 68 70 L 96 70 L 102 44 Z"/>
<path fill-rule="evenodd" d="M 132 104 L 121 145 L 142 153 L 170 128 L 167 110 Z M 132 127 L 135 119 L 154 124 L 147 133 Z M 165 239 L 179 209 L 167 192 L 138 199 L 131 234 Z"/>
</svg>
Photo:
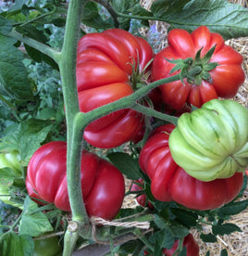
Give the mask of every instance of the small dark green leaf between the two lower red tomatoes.
<svg viewBox="0 0 248 256">
<path fill-rule="evenodd" d="M 107 158 L 125 174 L 130 180 L 138 180 L 141 177 L 138 160 L 134 160 L 129 154 L 116 152 L 107 155 Z"/>
</svg>

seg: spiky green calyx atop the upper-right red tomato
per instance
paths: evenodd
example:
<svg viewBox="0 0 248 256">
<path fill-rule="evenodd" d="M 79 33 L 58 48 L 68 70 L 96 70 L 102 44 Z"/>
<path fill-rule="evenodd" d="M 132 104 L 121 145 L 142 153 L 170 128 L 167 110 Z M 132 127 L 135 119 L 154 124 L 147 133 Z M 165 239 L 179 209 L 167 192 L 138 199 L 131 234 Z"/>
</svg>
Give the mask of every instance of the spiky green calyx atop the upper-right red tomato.
<svg viewBox="0 0 248 256">
<path fill-rule="evenodd" d="M 209 62 L 212 58 L 216 45 L 214 45 L 203 58 L 201 53 L 203 47 L 199 49 L 195 55 L 195 58 L 185 59 L 167 59 L 169 63 L 176 64 L 176 66 L 170 70 L 170 74 L 180 70 L 180 81 L 184 84 L 183 79 L 186 78 L 188 83 L 200 85 L 203 80 L 208 83 L 213 83 L 210 70 L 216 69 L 218 66 L 217 62 Z"/>
</svg>

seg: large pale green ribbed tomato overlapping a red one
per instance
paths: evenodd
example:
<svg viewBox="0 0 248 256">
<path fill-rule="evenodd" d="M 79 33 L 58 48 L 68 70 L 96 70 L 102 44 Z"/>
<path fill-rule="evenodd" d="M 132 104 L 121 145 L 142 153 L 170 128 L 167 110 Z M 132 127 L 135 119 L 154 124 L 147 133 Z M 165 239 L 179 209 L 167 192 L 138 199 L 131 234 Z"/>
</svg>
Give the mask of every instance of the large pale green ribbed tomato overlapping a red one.
<svg viewBox="0 0 248 256">
<path fill-rule="evenodd" d="M 169 136 L 173 160 L 201 181 L 229 178 L 248 166 L 248 109 L 213 99 L 180 116 Z"/>
</svg>

